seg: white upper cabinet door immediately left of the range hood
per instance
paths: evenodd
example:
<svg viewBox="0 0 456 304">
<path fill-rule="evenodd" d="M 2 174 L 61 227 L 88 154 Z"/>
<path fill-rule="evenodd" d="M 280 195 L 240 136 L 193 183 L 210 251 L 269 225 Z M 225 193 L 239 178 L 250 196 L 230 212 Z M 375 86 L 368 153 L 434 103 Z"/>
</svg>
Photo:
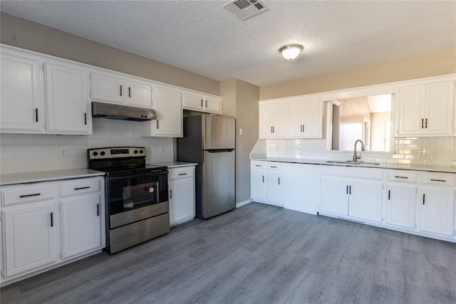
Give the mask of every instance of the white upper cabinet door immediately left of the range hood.
<svg viewBox="0 0 456 304">
<path fill-rule="evenodd" d="M 91 116 L 88 72 L 73 65 L 46 63 L 47 130 L 88 134 Z"/>
</svg>

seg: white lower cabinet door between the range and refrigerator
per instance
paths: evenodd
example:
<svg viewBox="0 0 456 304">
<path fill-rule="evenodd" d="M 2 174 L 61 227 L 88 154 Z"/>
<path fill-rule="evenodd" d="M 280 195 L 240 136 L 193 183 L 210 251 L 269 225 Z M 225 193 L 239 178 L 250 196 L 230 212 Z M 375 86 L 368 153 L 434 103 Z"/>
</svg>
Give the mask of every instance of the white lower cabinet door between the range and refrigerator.
<svg viewBox="0 0 456 304">
<path fill-rule="evenodd" d="M 195 179 L 170 181 L 170 225 L 195 217 Z"/>
</svg>

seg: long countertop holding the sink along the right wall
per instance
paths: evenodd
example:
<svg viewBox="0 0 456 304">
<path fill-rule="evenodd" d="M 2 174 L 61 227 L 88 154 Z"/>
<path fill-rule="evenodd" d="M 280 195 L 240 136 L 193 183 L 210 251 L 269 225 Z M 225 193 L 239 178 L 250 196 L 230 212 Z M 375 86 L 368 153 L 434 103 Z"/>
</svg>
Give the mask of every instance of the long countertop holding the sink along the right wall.
<svg viewBox="0 0 456 304">
<path fill-rule="evenodd" d="M 382 169 L 400 169 L 400 170 L 415 170 L 415 171 L 428 171 L 428 172 L 442 172 L 442 173 L 456 173 L 456 168 L 444 166 L 429 166 L 420 164 L 334 164 L 328 163 L 333 159 L 301 159 L 301 158 L 288 158 L 288 157 L 251 157 L 251 160 L 262 160 L 268 162 L 293 162 L 297 164 L 323 164 L 327 166 L 339 167 L 369 167 L 369 168 L 382 168 Z M 343 161 L 342 161 L 343 162 Z"/>
</svg>

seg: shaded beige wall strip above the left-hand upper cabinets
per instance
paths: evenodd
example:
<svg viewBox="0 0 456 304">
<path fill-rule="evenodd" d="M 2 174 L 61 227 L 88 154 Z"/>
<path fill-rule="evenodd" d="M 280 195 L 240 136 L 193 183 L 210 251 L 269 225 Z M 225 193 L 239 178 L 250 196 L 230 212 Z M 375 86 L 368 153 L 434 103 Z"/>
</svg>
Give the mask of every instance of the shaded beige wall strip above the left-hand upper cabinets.
<svg viewBox="0 0 456 304">
<path fill-rule="evenodd" d="M 1 13 L 1 43 L 219 95 L 217 80 Z"/>
</svg>

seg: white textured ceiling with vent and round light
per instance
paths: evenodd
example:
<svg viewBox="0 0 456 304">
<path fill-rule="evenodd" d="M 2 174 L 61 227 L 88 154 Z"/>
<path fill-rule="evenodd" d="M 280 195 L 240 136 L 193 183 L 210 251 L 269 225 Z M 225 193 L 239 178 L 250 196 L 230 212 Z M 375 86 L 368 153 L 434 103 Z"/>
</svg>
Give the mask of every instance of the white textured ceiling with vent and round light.
<svg viewBox="0 0 456 304">
<path fill-rule="evenodd" d="M 4 1 L 1 11 L 216 80 L 269 85 L 456 49 L 456 1 Z M 304 51 L 286 61 L 279 48 Z"/>
</svg>

